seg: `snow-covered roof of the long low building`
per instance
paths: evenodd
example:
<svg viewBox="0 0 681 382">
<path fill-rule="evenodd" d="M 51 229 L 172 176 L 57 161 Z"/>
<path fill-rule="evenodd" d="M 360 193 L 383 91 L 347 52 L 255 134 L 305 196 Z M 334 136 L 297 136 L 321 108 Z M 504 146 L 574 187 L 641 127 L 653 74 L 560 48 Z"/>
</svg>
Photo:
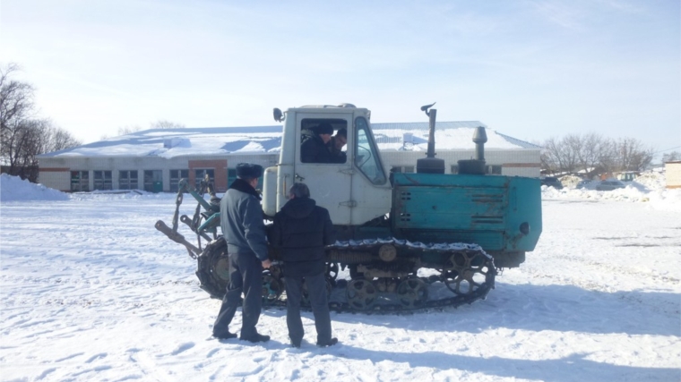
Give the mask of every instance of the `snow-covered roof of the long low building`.
<svg viewBox="0 0 681 382">
<path fill-rule="evenodd" d="M 438 122 L 437 149 L 475 149 L 477 126 L 487 132 L 485 149 L 540 149 L 522 140 L 490 130 L 477 121 Z M 382 151 L 426 151 L 428 123 L 372 123 Z M 182 157 L 188 155 L 269 154 L 280 152 L 282 126 L 151 129 L 88 143 L 39 157 Z"/>
</svg>

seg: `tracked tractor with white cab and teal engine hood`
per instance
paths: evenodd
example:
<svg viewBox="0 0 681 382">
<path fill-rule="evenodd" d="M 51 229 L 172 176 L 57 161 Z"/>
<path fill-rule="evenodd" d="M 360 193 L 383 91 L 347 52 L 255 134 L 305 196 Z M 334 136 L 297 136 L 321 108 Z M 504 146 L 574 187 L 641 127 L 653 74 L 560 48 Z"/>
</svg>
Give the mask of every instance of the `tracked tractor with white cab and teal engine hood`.
<svg viewBox="0 0 681 382">
<path fill-rule="evenodd" d="M 264 173 L 263 217 L 279 211 L 296 182 L 306 183 L 317 205 L 329 210 L 338 238 L 325 250 L 334 310 L 419 310 L 484 299 L 495 286 L 498 269 L 518 267 L 539 241 L 539 179 L 486 174 L 483 127 L 473 136 L 475 157 L 460 160 L 458 174 L 445 174 L 444 160 L 435 157 L 436 109 L 428 105 L 421 110 L 429 120 L 427 153 L 418 159 L 416 173 L 391 173 L 366 108 L 274 109 L 283 136 L 279 163 Z M 304 135 L 326 123 L 335 132 L 347 132 L 344 160 L 304 161 Z M 211 192 L 210 180 L 204 191 Z M 182 192 L 173 227 L 159 221 L 157 228 L 185 245 L 198 260 L 202 288 L 221 298 L 228 283 L 228 254 L 219 232 L 217 197 L 212 192 L 211 203 L 202 192 L 192 191 L 199 200 L 196 214 L 183 217 L 199 241 L 203 237 L 207 242 L 203 248 L 177 231 Z M 270 256 L 275 264 L 280 260 L 275 248 Z M 264 301 L 283 304 L 281 268 L 264 272 Z"/>
</svg>

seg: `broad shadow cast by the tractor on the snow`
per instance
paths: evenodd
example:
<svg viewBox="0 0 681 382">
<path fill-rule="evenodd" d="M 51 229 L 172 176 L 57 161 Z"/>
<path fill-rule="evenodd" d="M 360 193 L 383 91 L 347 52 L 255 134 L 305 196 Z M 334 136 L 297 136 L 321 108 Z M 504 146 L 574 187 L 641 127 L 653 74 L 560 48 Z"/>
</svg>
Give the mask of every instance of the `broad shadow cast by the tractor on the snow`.
<svg viewBox="0 0 681 382">
<path fill-rule="evenodd" d="M 593 334 L 681 335 L 678 293 L 591 291 L 574 285 L 496 284 L 486 301 L 393 315 L 339 313 L 342 322 L 478 333 L 488 328 Z"/>
</svg>

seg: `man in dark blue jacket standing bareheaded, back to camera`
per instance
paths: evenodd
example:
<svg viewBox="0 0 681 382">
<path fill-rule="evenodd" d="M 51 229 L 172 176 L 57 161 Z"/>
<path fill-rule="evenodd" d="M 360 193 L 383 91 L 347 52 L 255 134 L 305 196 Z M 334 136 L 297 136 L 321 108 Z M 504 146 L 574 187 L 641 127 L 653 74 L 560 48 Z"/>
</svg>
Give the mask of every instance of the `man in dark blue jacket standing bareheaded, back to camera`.
<svg viewBox="0 0 681 382">
<path fill-rule="evenodd" d="M 326 208 L 310 199 L 305 183 L 294 183 L 289 191 L 289 201 L 274 216 L 270 242 L 280 248 L 284 260 L 287 314 L 291 345 L 300 347 L 305 331 L 300 319 L 300 299 L 303 281 L 315 315 L 317 345 L 338 343 L 331 335 L 331 316 L 326 296 L 324 277 L 324 246 L 335 242 L 335 231 Z"/>
</svg>

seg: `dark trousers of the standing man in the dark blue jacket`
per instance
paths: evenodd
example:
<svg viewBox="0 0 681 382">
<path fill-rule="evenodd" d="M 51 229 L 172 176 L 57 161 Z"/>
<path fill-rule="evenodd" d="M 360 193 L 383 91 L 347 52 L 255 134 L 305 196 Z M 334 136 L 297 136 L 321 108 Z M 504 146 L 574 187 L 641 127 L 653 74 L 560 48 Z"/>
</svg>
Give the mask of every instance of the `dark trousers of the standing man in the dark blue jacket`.
<svg viewBox="0 0 681 382">
<path fill-rule="evenodd" d="M 299 343 L 305 335 L 303 321 L 300 319 L 300 299 L 303 294 L 303 279 L 307 284 L 310 305 L 315 315 L 317 342 L 331 341 L 331 316 L 329 315 L 329 301 L 326 296 L 326 279 L 324 274 L 315 276 L 285 276 L 286 283 L 286 325 L 289 327 L 289 338 Z"/>
</svg>

